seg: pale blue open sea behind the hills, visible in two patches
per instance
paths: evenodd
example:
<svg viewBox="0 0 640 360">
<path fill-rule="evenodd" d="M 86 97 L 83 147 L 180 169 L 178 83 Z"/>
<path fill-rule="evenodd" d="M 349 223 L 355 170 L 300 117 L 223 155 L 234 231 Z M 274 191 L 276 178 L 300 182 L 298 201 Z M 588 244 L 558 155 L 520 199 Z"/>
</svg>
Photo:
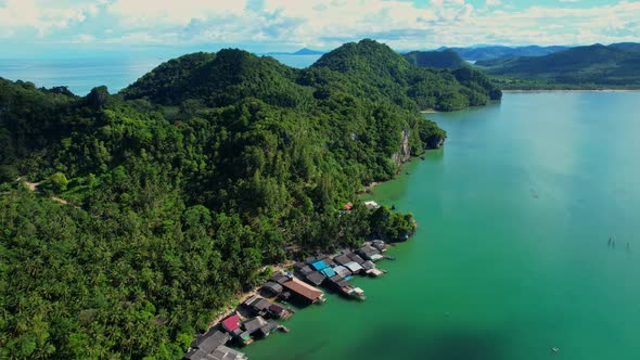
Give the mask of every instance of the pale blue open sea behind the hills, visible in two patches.
<svg viewBox="0 0 640 360">
<path fill-rule="evenodd" d="M 307 67 L 319 55 L 273 55 L 293 67 Z M 75 94 L 86 95 L 97 86 L 105 85 L 111 93 L 136 81 L 170 57 L 90 57 L 90 59 L 0 59 L 0 77 L 31 81 L 38 87 L 68 86 Z"/>
</svg>

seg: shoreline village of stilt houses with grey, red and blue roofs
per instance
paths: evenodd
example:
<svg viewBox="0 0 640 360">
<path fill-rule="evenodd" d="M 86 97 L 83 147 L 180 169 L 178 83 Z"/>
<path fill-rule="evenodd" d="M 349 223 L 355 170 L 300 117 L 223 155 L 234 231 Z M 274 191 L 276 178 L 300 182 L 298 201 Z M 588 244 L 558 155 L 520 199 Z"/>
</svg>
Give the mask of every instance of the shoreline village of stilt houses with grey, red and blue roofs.
<svg viewBox="0 0 640 360">
<path fill-rule="evenodd" d="M 345 208 L 348 209 L 349 205 L 346 204 Z M 367 206 L 376 207 L 377 204 L 367 202 Z M 325 292 L 348 300 L 366 300 L 364 291 L 354 286 L 350 280 L 386 273 L 376 262 L 395 260 L 384 255 L 387 246 L 382 240 L 372 240 L 356 249 L 319 254 L 278 270 L 235 309 L 226 313 L 205 334 L 199 335 L 183 359 L 248 359 L 238 349 L 276 331 L 287 333 L 290 330 L 282 322 L 294 316 L 296 309 L 327 301 Z"/>
</svg>

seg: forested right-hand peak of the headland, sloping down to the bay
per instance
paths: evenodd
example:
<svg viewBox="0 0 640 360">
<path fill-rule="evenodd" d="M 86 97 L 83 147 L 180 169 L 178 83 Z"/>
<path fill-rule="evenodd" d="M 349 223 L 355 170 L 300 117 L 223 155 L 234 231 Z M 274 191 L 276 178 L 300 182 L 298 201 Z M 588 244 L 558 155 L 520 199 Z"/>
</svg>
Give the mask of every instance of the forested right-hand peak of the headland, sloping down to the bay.
<svg viewBox="0 0 640 360">
<path fill-rule="evenodd" d="M 402 107 L 453 111 L 502 97 L 481 72 L 417 67 L 372 40 L 346 43 L 311 66 L 311 70 L 324 68 L 345 75 L 351 92 L 392 99 Z"/>
</svg>

